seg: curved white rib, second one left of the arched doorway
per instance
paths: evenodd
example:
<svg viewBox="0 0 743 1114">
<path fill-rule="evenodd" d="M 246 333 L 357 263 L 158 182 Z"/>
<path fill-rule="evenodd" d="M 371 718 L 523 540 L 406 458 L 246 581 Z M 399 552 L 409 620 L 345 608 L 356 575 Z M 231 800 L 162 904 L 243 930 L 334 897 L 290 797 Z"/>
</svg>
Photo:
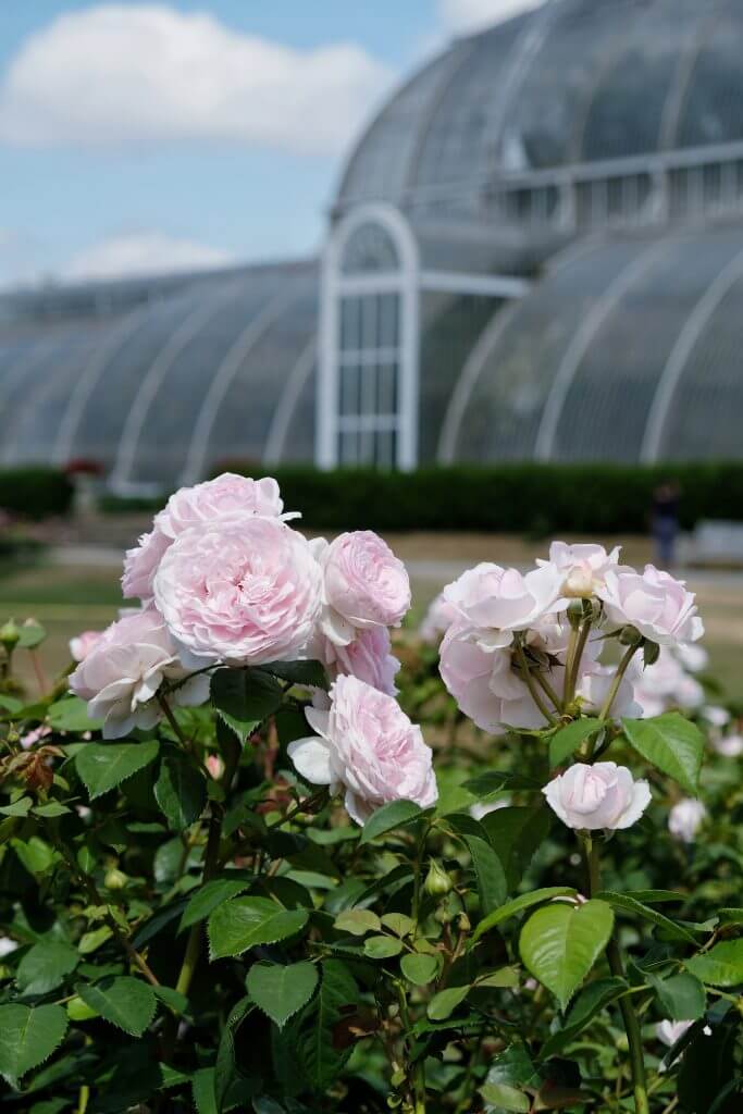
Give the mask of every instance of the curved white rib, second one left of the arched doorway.
<svg viewBox="0 0 743 1114">
<path fill-rule="evenodd" d="M 222 360 L 198 412 L 188 443 L 180 483 L 196 483 L 204 478 L 212 427 L 235 375 L 243 367 L 251 349 L 265 335 L 296 296 L 296 291 L 289 284 L 280 294 L 272 297 L 268 304 L 246 325 Z"/>
</svg>

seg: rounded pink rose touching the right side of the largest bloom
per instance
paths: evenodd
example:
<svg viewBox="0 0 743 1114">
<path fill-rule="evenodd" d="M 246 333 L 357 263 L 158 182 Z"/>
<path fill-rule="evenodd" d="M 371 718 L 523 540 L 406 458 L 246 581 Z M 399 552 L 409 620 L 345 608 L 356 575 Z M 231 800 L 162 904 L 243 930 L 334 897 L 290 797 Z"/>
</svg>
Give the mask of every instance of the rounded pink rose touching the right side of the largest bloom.
<svg viewBox="0 0 743 1114">
<path fill-rule="evenodd" d="M 323 570 L 326 637 L 348 645 L 359 629 L 400 626 L 410 607 L 410 580 L 382 538 L 354 530 L 330 545 L 317 539 L 313 547 Z"/>
</svg>

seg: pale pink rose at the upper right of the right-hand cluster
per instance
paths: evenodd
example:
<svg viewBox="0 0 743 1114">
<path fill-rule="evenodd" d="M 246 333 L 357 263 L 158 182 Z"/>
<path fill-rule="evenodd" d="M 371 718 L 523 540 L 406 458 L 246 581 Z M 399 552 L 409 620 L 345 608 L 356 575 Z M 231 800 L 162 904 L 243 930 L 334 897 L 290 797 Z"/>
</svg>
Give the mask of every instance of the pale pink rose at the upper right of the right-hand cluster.
<svg viewBox="0 0 743 1114">
<path fill-rule="evenodd" d="M 704 634 L 694 594 L 654 565 L 646 565 L 643 574 L 607 569 L 598 596 L 612 623 L 634 626 L 662 646 L 696 642 Z"/>
</svg>

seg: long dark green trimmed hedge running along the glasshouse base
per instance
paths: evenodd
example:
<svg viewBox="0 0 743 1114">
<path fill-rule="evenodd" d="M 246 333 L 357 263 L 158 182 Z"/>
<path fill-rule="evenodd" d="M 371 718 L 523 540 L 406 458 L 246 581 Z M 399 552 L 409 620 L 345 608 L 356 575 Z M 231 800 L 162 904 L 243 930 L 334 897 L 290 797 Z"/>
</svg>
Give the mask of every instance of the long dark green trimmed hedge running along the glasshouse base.
<svg viewBox="0 0 743 1114">
<path fill-rule="evenodd" d="M 231 461 L 222 470 L 260 476 Z M 456 466 L 417 472 L 313 468 L 270 469 L 287 510 L 323 530 L 472 530 L 529 534 L 643 534 L 653 490 L 674 479 L 681 520 L 743 520 L 743 462 L 665 465 Z M 157 510 L 164 500 L 110 499 L 108 510 Z"/>
</svg>

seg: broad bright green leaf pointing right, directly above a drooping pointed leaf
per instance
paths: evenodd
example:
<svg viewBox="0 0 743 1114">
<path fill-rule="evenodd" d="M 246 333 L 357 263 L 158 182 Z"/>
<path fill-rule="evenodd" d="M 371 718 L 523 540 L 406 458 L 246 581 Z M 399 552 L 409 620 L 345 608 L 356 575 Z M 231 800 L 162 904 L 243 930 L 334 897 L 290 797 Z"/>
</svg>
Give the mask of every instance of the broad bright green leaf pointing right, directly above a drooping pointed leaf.
<svg viewBox="0 0 743 1114">
<path fill-rule="evenodd" d="M 306 909 L 282 909 L 268 898 L 233 898 L 209 917 L 212 959 L 239 956 L 257 944 L 276 944 L 301 931 L 307 922 Z"/>
</svg>

